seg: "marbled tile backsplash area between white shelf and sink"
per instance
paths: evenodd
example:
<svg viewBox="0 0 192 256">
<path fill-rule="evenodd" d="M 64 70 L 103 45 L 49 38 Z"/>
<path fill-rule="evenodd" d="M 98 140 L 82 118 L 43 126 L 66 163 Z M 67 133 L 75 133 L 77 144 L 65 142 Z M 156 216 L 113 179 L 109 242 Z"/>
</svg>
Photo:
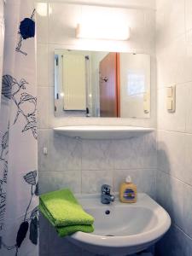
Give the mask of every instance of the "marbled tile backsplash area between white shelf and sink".
<svg viewBox="0 0 192 256">
<path fill-rule="evenodd" d="M 44 147 L 48 154 L 44 154 Z M 126 140 L 79 140 L 39 131 L 40 193 L 69 187 L 74 193 L 100 192 L 103 183 L 119 190 L 129 174 L 139 192 L 155 196 L 155 133 Z"/>
</svg>

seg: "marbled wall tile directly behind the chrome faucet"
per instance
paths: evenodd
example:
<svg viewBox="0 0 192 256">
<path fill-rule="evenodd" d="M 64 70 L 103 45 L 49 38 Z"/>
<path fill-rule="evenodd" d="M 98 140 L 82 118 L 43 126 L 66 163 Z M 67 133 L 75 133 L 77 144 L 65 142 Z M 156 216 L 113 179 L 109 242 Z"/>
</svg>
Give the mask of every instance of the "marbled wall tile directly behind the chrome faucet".
<svg viewBox="0 0 192 256">
<path fill-rule="evenodd" d="M 82 171 L 82 193 L 100 193 L 102 184 L 113 186 L 113 170 Z"/>
</svg>

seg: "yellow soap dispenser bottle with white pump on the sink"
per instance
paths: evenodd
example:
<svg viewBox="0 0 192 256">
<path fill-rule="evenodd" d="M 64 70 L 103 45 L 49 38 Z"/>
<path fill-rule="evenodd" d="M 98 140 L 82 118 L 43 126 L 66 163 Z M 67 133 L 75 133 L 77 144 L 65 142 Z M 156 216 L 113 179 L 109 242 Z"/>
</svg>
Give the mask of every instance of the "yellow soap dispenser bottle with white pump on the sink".
<svg viewBox="0 0 192 256">
<path fill-rule="evenodd" d="M 119 200 L 124 203 L 134 203 L 137 201 L 137 186 L 132 183 L 131 176 L 127 176 L 125 183 L 120 184 Z"/>
</svg>

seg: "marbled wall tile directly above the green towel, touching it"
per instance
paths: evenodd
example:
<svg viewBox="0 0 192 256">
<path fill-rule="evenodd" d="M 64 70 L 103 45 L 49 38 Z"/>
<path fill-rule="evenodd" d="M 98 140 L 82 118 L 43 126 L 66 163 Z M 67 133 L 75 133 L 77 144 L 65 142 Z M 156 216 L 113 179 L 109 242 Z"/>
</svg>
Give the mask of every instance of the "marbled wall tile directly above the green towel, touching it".
<svg viewBox="0 0 192 256">
<path fill-rule="evenodd" d="M 81 173 L 68 172 L 39 172 L 39 193 L 47 193 L 58 189 L 71 189 L 73 193 L 81 192 Z"/>
</svg>

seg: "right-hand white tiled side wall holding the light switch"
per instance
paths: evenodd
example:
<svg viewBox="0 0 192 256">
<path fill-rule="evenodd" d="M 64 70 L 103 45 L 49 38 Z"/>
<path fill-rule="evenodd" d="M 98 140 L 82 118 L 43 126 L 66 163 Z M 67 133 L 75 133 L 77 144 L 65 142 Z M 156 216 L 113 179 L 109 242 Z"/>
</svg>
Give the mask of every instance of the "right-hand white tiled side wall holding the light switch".
<svg viewBox="0 0 192 256">
<path fill-rule="evenodd" d="M 192 252 L 192 2 L 157 0 L 157 200 L 172 229 L 157 256 Z M 176 112 L 166 110 L 166 87 L 176 85 Z"/>
</svg>

